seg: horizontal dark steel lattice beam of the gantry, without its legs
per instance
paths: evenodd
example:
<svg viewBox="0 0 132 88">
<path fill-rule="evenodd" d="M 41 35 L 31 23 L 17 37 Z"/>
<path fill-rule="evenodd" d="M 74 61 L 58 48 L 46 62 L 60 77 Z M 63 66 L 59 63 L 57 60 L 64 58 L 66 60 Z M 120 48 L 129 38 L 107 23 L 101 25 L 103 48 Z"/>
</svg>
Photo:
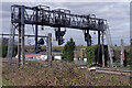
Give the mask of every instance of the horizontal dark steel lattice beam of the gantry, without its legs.
<svg viewBox="0 0 132 88">
<path fill-rule="evenodd" d="M 98 19 L 96 15 L 72 14 L 69 10 L 50 10 L 48 7 L 11 7 L 11 22 L 24 24 L 47 25 L 53 28 L 70 28 L 80 30 L 103 31 L 106 20 Z M 21 11 L 20 11 L 21 10 Z M 22 12 L 23 11 L 23 12 Z M 21 18 L 19 15 L 22 15 Z"/>
</svg>

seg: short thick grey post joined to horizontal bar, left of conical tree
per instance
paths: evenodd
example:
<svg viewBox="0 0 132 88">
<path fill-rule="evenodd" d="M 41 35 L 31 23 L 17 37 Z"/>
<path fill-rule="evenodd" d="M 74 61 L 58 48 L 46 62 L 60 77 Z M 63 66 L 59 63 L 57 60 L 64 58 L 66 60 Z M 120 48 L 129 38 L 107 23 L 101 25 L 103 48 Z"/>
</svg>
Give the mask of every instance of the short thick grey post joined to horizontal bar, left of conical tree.
<svg viewBox="0 0 132 88">
<path fill-rule="evenodd" d="M 52 66 L 52 33 L 48 33 L 47 37 L 47 59 L 48 66 Z"/>
</svg>

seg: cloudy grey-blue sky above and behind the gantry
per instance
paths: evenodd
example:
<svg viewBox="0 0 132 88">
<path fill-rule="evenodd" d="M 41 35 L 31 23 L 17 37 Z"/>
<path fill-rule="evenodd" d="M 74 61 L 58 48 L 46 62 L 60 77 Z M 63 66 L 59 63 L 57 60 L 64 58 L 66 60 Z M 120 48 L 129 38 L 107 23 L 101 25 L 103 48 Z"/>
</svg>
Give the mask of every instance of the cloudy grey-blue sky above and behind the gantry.
<svg viewBox="0 0 132 88">
<path fill-rule="evenodd" d="M 111 33 L 111 40 L 113 45 L 120 45 L 121 38 L 124 40 L 124 45 L 130 44 L 130 2 L 3 2 L 2 10 L 2 33 L 9 33 L 11 23 L 10 23 L 10 13 L 11 4 L 24 4 L 29 7 L 34 7 L 36 4 L 44 4 L 51 7 L 51 10 L 54 9 L 68 9 L 73 14 L 96 14 L 97 18 L 106 19 L 109 23 L 109 30 Z M 73 37 L 76 45 L 87 45 L 84 41 L 84 33 L 79 29 L 66 29 L 67 32 L 64 36 L 65 43 Z M 34 34 L 31 25 L 25 25 L 25 34 Z M 18 32 L 16 32 L 18 33 Z M 40 35 L 47 35 L 47 33 L 53 34 L 53 45 L 57 45 L 54 35 L 54 29 L 45 26 L 44 31 L 38 29 Z M 90 31 L 92 43 L 97 44 L 98 33 L 94 34 Z M 15 40 L 18 40 L 15 37 Z M 31 40 L 31 44 L 34 44 L 33 37 L 25 38 L 25 44 Z M 107 44 L 107 42 L 106 42 Z"/>
</svg>

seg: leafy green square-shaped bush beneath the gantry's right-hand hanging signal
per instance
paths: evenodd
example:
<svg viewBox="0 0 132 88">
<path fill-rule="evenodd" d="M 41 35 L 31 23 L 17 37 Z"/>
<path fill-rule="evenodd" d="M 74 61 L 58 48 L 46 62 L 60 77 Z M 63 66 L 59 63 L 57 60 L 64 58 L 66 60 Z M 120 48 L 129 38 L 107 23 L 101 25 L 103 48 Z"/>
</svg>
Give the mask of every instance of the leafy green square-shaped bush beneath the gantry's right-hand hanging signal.
<svg viewBox="0 0 132 88">
<path fill-rule="evenodd" d="M 96 62 L 97 50 L 98 50 L 98 45 L 87 46 L 86 54 L 87 54 L 88 64 Z"/>
</svg>

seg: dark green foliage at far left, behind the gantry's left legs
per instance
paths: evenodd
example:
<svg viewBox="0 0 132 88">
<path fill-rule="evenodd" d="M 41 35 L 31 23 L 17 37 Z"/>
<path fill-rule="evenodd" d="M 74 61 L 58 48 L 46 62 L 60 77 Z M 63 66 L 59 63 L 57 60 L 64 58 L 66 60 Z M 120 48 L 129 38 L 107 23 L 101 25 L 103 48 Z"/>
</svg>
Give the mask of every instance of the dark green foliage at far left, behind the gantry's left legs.
<svg viewBox="0 0 132 88">
<path fill-rule="evenodd" d="M 0 45 L 0 56 L 1 57 L 6 57 L 7 56 L 7 54 L 8 54 L 8 45 Z M 18 46 L 16 45 L 14 45 L 13 46 L 13 56 L 15 56 L 16 55 L 16 53 L 18 53 Z"/>
</svg>

